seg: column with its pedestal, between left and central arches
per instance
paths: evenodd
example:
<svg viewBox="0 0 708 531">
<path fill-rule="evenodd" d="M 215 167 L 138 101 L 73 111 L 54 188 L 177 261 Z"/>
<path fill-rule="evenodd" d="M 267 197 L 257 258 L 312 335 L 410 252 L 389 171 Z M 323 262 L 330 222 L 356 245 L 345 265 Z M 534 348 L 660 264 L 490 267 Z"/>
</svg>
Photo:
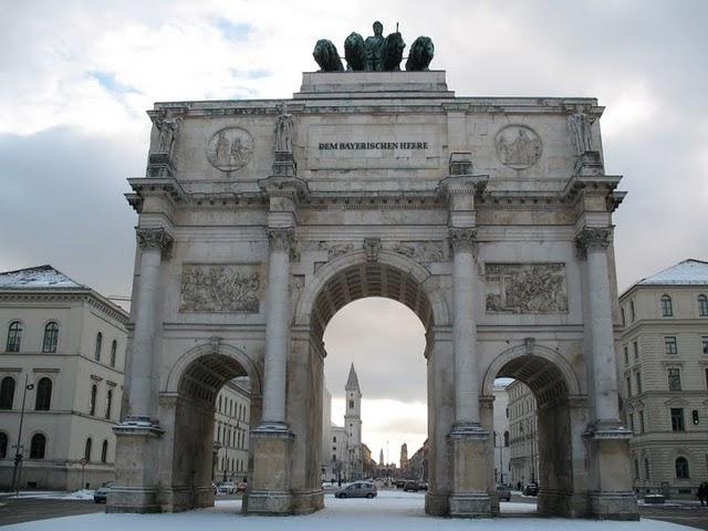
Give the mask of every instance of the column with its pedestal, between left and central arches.
<svg viewBox="0 0 708 531">
<path fill-rule="evenodd" d="M 294 436 L 285 423 L 285 376 L 290 340 L 290 248 L 292 227 L 268 229 L 268 316 L 263 368 L 263 412 L 251 431 L 253 481 L 248 512 L 292 512 L 291 455 Z"/>
</svg>

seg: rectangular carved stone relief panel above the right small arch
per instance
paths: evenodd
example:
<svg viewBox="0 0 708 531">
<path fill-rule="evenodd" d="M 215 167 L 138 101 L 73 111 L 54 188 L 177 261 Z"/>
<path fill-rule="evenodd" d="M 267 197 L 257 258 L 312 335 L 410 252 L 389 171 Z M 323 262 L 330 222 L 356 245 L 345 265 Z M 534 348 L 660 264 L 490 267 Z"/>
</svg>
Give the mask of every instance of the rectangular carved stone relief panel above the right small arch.
<svg viewBox="0 0 708 531">
<path fill-rule="evenodd" d="M 487 263 L 488 313 L 565 313 L 568 290 L 563 263 Z"/>
</svg>

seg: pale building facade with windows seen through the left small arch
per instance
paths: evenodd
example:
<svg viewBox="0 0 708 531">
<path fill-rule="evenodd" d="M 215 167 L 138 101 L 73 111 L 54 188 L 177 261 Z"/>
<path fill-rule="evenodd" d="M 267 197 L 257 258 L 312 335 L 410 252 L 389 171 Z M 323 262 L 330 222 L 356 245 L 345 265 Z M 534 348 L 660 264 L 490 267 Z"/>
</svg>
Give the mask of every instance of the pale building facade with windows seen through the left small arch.
<svg viewBox="0 0 708 531">
<path fill-rule="evenodd" d="M 248 377 L 225 384 L 214 417 L 214 479 L 242 481 L 248 472 L 251 394 Z"/>
</svg>

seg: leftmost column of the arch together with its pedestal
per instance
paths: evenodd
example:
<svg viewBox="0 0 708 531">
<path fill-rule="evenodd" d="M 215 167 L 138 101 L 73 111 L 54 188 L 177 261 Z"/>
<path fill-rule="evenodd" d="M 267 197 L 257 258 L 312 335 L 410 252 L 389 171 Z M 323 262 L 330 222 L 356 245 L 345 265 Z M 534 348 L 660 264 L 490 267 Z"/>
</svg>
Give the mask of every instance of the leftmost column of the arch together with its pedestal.
<svg viewBox="0 0 708 531">
<path fill-rule="evenodd" d="M 138 300 L 128 404 L 131 414 L 114 428 L 116 434 L 115 485 L 107 499 L 107 512 L 159 512 L 159 439 L 155 340 L 159 322 L 159 270 L 173 238 L 162 228 L 138 229 L 142 249 Z"/>
</svg>

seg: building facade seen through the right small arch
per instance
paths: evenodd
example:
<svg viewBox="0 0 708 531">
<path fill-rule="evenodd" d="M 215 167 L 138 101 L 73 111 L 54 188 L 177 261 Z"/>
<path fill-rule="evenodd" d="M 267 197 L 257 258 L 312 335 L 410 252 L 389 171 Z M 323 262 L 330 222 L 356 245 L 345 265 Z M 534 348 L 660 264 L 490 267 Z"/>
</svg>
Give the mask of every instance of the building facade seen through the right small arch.
<svg viewBox="0 0 708 531">
<path fill-rule="evenodd" d="M 538 412 L 531 389 L 519 381 L 507 386 L 509 394 L 510 483 L 520 489 L 539 480 Z"/>
</svg>

